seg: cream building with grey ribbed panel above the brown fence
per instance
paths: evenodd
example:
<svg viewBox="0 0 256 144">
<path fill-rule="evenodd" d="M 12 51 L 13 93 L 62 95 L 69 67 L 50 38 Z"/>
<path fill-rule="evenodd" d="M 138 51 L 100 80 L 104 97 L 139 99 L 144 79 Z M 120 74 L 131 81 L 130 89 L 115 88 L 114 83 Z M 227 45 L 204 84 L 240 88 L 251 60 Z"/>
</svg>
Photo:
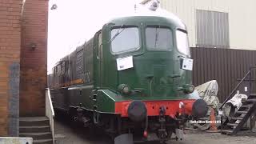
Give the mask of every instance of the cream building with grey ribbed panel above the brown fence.
<svg viewBox="0 0 256 144">
<path fill-rule="evenodd" d="M 150 5 L 152 0 L 144 0 Z M 255 0 L 159 0 L 187 26 L 191 47 L 256 50 Z"/>
</svg>

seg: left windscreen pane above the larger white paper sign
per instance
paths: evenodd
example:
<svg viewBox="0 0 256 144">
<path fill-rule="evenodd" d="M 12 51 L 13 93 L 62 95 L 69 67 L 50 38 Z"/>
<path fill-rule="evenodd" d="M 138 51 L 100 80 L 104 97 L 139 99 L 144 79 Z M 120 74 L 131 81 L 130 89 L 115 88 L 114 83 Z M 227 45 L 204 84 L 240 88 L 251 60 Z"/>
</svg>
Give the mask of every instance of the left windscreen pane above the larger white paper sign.
<svg viewBox="0 0 256 144">
<path fill-rule="evenodd" d="M 138 28 L 126 27 L 113 29 L 111 30 L 111 40 L 111 50 L 114 54 L 138 50 Z"/>
</svg>

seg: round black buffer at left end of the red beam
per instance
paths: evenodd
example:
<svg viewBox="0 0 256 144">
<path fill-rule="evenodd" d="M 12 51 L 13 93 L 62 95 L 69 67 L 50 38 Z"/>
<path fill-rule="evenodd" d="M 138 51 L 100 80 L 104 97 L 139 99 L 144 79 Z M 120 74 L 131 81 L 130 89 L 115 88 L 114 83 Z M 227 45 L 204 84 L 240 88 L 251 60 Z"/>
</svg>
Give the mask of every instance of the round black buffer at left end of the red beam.
<svg viewBox="0 0 256 144">
<path fill-rule="evenodd" d="M 146 105 L 142 101 L 133 101 L 128 106 L 128 117 L 134 122 L 142 122 L 146 118 Z"/>
</svg>

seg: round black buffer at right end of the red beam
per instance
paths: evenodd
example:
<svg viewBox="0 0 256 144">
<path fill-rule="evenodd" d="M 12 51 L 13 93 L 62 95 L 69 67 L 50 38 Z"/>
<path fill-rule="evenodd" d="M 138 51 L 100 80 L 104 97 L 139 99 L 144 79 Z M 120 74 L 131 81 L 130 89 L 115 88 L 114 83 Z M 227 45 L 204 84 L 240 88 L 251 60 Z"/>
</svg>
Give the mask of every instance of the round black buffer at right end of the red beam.
<svg viewBox="0 0 256 144">
<path fill-rule="evenodd" d="M 205 117 L 207 114 L 207 111 L 208 111 L 208 106 L 204 100 L 198 99 L 194 102 L 194 104 L 192 106 L 192 115 L 195 118 Z"/>
</svg>

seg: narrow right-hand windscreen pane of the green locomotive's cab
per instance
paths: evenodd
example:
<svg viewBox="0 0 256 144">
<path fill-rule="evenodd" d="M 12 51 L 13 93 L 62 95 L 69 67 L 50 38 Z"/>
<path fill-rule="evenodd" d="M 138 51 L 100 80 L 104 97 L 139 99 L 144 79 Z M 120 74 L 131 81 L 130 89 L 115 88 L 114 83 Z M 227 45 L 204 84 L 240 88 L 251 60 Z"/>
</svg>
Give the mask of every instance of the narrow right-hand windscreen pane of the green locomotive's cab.
<svg viewBox="0 0 256 144">
<path fill-rule="evenodd" d="M 176 30 L 178 51 L 185 55 L 190 55 L 189 42 L 187 34 L 181 30 Z"/>
</svg>

